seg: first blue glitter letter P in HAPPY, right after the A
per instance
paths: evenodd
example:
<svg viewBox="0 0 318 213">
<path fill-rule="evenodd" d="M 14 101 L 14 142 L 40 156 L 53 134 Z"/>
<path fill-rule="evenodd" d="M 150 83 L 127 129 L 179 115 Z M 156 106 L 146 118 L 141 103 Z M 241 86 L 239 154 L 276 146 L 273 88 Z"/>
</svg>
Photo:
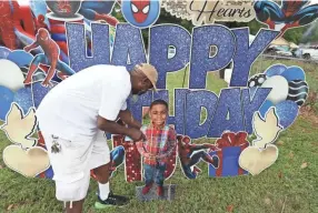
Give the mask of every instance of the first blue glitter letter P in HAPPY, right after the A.
<svg viewBox="0 0 318 213">
<path fill-rule="evenodd" d="M 149 59 L 158 70 L 158 89 L 166 89 L 167 72 L 178 71 L 187 65 L 190 43 L 189 32 L 179 26 L 163 24 L 150 29 Z M 168 59 L 169 45 L 176 49 L 176 55 L 171 59 Z"/>
</svg>

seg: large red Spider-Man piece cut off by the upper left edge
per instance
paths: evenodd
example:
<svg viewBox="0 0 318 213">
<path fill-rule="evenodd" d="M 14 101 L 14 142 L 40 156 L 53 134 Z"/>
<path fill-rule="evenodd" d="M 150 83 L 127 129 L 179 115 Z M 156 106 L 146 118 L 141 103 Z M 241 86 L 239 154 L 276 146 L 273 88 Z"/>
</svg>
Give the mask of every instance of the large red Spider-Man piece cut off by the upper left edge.
<svg viewBox="0 0 318 213">
<path fill-rule="evenodd" d="M 4 45 L 11 50 L 17 49 L 14 23 L 18 22 L 19 4 L 17 1 L 0 1 L 0 34 Z"/>
</svg>

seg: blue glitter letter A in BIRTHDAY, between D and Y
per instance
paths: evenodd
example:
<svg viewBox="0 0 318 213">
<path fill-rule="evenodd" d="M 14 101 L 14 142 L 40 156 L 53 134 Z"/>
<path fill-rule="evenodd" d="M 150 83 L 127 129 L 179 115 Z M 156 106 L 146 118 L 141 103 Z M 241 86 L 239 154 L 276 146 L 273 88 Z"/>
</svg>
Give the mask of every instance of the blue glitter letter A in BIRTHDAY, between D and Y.
<svg viewBox="0 0 318 213">
<path fill-rule="evenodd" d="M 229 119 L 227 116 L 229 115 Z M 240 89 L 223 89 L 218 108 L 211 122 L 209 138 L 220 138 L 222 132 L 244 131 L 244 115 L 240 100 Z"/>
</svg>

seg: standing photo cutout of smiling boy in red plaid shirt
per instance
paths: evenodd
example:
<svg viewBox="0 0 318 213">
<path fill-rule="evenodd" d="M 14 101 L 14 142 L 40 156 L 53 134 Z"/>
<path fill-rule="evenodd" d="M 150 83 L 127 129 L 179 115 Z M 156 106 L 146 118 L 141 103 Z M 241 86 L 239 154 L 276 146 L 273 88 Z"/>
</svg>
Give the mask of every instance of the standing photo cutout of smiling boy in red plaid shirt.
<svg viewBox="0 0 318 213">
<path fill-rule="evenodd" d="M 169 106 L 163 100 L 156 100 L 150 104 L 150 123 L 142 125 L 141 131 L 146 141 L 136 143 L 139 153 L 143 158 L 143 171 L 146 185 L 142 194 L 157 184 L 157 195 L 163 196 L 163 181 L 167 162 L 177 145 L 177 133 L 173 128 L 167 124 Z"/>
</svg>

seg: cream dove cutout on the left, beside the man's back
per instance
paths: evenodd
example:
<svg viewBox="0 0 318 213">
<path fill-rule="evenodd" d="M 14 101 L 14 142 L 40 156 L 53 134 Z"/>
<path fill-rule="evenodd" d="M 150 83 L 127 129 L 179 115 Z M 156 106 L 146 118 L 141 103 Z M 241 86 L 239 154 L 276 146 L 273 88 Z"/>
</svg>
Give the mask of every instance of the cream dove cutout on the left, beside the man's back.
<svg viewBox="0 0 318 213">
<path fill-rule="evenodd" d="M 23 114 L 18 103 L 11 103 L 11 109 L 7 113 L 6 123 L 0 126 L 7 138 L 20 144 L 22 149 L 32 148 L 37 144 L 37 139 L 30 138 L 36 131 L 37 118 L 34 108 L 30 108 L 27 115 Z"/>
</svg>

